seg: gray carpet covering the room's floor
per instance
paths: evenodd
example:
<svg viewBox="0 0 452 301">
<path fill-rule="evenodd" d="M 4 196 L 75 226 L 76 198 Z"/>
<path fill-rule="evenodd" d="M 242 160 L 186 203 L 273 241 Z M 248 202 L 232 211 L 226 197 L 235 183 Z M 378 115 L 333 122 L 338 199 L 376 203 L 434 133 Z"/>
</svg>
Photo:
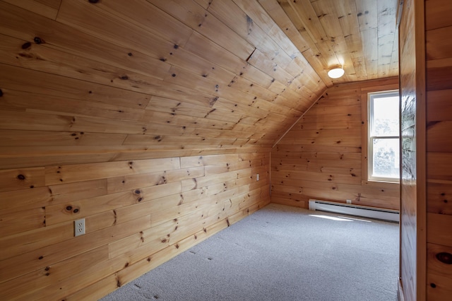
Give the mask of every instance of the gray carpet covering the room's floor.
<svg viewBox="0 0 452 301">
<path fill-rule="evenodd" d="M 394 301 L 398 231 L 398 223 L 270 204 L 102 301 Z"/>
</svg>

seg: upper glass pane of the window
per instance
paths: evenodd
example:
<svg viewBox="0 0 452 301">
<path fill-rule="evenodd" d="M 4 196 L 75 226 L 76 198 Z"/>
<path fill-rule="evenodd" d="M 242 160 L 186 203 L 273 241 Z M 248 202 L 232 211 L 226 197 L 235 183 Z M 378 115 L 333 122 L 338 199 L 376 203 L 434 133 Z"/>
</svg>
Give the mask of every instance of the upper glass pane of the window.
<svg viewBox="0 0 452 301">
<path fill-rule="evenodd" d="M 398 136 L 398 96 L 373 98 L 371 136 Z"/>
</svg>

